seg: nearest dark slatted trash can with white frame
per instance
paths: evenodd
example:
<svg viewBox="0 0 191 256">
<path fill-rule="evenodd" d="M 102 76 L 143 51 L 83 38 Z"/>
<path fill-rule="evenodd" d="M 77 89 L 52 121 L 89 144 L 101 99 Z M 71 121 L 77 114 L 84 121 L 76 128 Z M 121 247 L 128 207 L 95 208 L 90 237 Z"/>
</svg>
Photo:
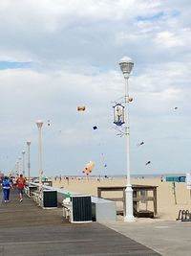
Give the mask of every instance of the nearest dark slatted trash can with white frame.
<svg viewBox="0 0 191 256">
<path fill-rule="evenodd" d="M 92 222 L 91 196 L 72 196 L 71 222 Z"/>
</svg>

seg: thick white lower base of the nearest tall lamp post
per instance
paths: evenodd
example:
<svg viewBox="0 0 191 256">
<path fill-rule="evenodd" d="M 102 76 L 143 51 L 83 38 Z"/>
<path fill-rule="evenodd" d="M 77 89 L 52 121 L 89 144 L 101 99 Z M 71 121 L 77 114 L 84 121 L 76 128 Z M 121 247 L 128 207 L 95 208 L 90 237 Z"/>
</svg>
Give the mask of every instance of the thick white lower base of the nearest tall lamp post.
<svg viewBox="0 0 191 256">
<path fill-rule="evenodd" d="M 134 217 L 133 213 L 133 189 L 131 184 L 127 184 L 126 190 L 126 214 L 124 217 L 124 221 L 133 222 L 136 221 L 136 218 Z"/>
</svg>

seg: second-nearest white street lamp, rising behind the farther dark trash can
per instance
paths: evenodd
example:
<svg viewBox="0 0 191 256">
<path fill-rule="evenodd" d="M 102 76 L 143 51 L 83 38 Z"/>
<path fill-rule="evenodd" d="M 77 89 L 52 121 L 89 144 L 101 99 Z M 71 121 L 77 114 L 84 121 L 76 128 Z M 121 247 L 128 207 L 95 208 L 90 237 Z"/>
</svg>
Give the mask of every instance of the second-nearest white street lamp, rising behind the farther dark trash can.
<svg viewBox="0 0 191 256">
<path fill-rule="evenodd" d="M 38 128 L 38 173 L 39 173 L 39 191 L 42 190 L 42 126 L 41 120 L 36 121 Z"/>
</svg>

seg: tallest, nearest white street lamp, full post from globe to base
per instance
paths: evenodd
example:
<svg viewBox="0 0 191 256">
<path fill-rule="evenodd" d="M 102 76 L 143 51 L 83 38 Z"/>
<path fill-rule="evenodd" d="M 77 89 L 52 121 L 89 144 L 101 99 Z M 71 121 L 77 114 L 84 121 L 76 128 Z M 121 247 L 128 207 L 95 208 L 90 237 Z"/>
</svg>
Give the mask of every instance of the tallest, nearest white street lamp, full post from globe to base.
<svg viewBox="0 0 191 256">
<path fill-rule="evenodd" d="M 126 195 L 126 209 L 124 221 L 135 221 L 133 213 L 133 189 L 130 180 L 130 125 L 129 125 L 129 102 L 132 101 L 129 98 L 129 86 L 128 79 L 129 75 L 134 66 L 134 62 L 131 58 L 121 58 L 119 61 L 120 69 L 125 79 L 125 135 L 126 135 L 126 168 L 127 168 L 127 186 L 125 189 Z"/>
</svg>

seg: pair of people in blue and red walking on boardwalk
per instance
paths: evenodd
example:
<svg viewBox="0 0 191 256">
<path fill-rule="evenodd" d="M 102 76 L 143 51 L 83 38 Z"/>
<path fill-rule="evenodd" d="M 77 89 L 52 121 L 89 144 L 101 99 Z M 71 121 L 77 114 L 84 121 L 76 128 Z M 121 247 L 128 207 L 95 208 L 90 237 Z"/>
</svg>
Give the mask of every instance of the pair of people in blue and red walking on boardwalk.
<svg viewBox="0 0 191 256">
<path fill-rule="evenodd" d="M 23 201 L 24 188 L 26 184 L 26 179 L 23 175 L 19 175 L 15 181 L 15 184 L 11 177 L 4 176 L 2 180 L 2 188 L 3 188 L 3 198 L 5 202 L 10 201 L 10 192 L 15 186 L 18 191 L 20 202 Z"/>
</svg>

